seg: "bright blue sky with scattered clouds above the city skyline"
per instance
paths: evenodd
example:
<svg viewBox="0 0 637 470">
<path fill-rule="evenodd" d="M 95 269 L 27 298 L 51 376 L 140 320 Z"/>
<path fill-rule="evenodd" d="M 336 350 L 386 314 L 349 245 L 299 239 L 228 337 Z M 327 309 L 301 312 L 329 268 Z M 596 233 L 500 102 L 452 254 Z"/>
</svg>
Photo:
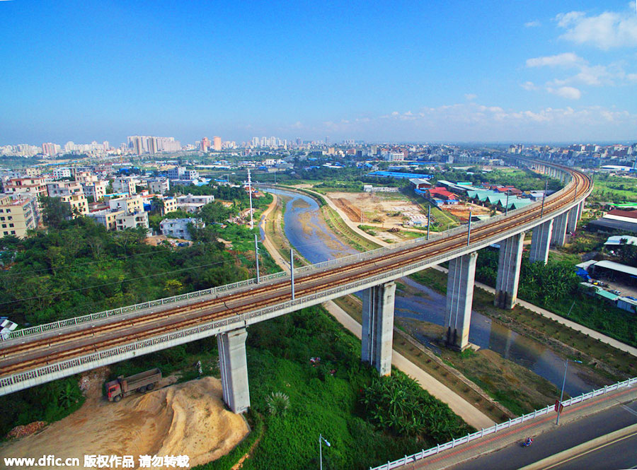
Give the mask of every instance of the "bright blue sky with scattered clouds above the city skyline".
<svg viewBox="0 0 637 470">
<path fill-rule="evenodd" d="M 635 2 L 0 0 L 0 145 L 635 141 Z"/>
</svg>

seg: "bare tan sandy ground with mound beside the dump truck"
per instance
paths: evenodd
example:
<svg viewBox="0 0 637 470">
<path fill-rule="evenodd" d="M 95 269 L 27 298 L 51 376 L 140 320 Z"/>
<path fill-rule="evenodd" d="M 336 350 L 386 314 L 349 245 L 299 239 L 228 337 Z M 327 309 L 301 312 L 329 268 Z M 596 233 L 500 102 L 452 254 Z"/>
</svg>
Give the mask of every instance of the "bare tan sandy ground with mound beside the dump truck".
<svg viewBox="0 0 637 470">
<path fill-rule="evenodd" d="M 214 377 L 173 385 L 174 377 L 168 377 L 158 384 L 168 387 L 110 403 L 102 397 L 106 373 L 87 372 L 81 409 L 40 433 L 5 442 L 0 459 L 53 454 L 77 457 L 82 464 L 86 454 L 132 455 L 137 465 L 139 455 L 188 455 L 193 467 L 227 454 L 248 433 L 246 421 L 225 409 L 221 382 Z"/>
</svg>

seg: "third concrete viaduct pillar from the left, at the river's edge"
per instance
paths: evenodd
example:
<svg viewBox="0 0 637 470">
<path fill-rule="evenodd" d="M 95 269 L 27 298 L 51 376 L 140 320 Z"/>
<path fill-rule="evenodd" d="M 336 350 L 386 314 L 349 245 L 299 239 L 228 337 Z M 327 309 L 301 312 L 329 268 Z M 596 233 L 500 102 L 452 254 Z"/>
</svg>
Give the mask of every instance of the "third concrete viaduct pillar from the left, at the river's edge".
<svg viewBox="0 0 637 470">
<path fill-rule="evenodd" d="M 476 259 L 473 252 L 454 258 L 449 262 L 447 274 L 447 346 L 463 351 L 469 346 L 469 326 L 471 324 L 471 304 L 474 301 L 474 279 Z"/>
</svg>

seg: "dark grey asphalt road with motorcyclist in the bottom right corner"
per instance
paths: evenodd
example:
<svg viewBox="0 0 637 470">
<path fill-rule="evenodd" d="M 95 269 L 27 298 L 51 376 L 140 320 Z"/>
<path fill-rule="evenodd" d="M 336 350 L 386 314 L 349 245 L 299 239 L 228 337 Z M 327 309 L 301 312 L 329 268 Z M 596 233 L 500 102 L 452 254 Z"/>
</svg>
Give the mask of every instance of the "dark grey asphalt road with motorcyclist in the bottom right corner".
<svg viewBox="0 0 637 470">
<path fill-rule="evenodd" d="M 615 430 L 637 423 L 637 401 L 626 405 L 613 406 L 611 409 L 596 413 L 587 418 L 581 418 L 572 423 L 560 424 L 558 428 L 533 437 L 533 444 L 522 447 L 522 441 L 527 435 L 520 433 L 520 440 L 501 450 L 484 454 L 481 457 L 450 467 L 453 470 L 516 470 L 549 457 L 576 445 Z M 637 437 L 622 440 L 615 445 L 603 447 L 597 452 L 590 452 L 579 459 L 573 459 L 565 466 L 553 468 L 566 469 L 631 469 L 637 464 Z M 632 445 L 631 445 L 632 444 Z M 616 452 L 616 454 L 613 452 Z M 613 458 L 609 459 L 609 454 Z M 590 464 L 589 464 L 590 462 Z M 568 466 L 567 466 L 568 465 Z M 601 466 L 597 466 L 601 465 Z"/>
</svg>

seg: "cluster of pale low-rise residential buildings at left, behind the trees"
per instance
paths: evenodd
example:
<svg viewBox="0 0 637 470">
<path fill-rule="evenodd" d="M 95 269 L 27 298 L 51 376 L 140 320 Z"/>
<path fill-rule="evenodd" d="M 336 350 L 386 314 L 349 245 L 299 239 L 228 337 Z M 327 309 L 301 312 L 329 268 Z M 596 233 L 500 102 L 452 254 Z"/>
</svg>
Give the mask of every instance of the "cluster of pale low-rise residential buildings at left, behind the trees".
<svg viewBox="0 0 637 470">
<path fill-rule="evenodd" d="M 91 217 L 108 230 L 149 229 L 149 211 L 159 211 L 162 216 L 178 209 L 197 213 L 214 201 L 212 195 L 167 195 L 171 183 L 200 182 L 197 171 L 183 167 L 172 168 L 167 177 L 113 175 L 112 170 L 87 167 L 56 167 L 40 173 L 40 168 L 26 168 L 0 175 L 0 237 L 24 237 L 40 225 L 40 196 L 59 198 L 69 207 L 71 217 Z M 178 227 L 188 223 L 166 223 L 170 229 L 164 235 L 184 235 Z"/>
</svg>

